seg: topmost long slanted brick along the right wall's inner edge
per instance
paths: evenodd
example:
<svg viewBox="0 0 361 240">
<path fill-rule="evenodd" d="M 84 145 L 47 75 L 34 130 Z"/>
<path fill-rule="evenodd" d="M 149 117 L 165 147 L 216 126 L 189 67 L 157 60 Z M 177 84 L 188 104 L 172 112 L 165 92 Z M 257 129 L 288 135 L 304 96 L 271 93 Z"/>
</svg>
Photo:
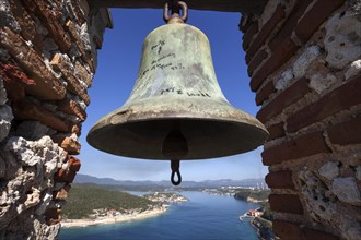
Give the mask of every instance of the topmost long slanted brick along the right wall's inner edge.
<svg viewBox="0 0 361 240">
<path fill-rule="evenodd" d="M 246 63 L 248 64 L 249 61 L 253 59 L 254 55 L 260 49 L 261 45 L 266 43 L 267 37 L 269 34 L 275 29 L 277 24 L 284 19 L 284 8 L 279 4 L 273 13 L 273 15 L 268 20 L 268 22 L 263 26 L 258 36 L 254 40 L 254 43 L 249 46 L 246 52 Z"/>
</svg>

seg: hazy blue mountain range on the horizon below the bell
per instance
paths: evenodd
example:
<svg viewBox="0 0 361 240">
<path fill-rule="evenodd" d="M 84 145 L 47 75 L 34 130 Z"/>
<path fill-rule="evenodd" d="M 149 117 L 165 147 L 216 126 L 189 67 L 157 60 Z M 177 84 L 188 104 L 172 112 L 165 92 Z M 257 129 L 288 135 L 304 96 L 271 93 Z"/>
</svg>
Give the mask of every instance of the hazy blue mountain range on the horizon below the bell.
<svg viewBox="0 0 361 240">
<path fill-rule="evenodd" d="M 95 183 L 101 185 L 124 185 L 124 187 L 173 187 L 170 181 L 124 181 L 115 180 L 112 178 L 96 178 L 89 175 L 78 173 L 74 183 Z M 244 179 L 244 180 L 205 180 L 200 182 L 196 181 L 183 181 L 183 188 L 220 188 L 220 187 L 266 187 L 265 179 Z"/>
</svg>

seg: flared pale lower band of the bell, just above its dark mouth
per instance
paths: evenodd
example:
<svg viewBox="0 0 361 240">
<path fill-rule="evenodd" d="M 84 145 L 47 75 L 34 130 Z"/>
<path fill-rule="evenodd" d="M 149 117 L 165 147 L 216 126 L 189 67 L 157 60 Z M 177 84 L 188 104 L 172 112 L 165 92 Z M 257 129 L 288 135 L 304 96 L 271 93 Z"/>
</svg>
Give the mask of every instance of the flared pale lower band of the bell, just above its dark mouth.
<svg viewBox="0 0 361 240">
<path fill-rule="evenodd" d="M 183 98 L 183 97 L 154 97 L 151 99 L 133 100 L 115 109 L 91 128 L 101 128 L 105 124 L 124 124 L 151 120 L 180 120 L 199 119 L 225 122 L 240 122 L 253 124 L 267 134 L 266 127 L 254 116 L 233 107 L 225 98 Z"/>
</svg>

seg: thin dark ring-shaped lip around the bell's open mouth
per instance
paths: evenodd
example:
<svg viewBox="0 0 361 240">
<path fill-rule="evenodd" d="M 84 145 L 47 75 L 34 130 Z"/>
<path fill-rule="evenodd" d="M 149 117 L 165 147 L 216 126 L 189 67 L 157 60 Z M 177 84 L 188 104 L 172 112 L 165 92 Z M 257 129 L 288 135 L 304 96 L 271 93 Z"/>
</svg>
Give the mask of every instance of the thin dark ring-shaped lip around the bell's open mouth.
<svg viewBox="0 0 361 240">
<path fill-rule="evenodd" d="M 121 123 L 121 125 L 128 125 L 128 124 L 133 124 L 133 123 L 139 123 L 139 122 L 152 122 L 152 121 L 165 121 L 165 120 L 178 120 L 178 121 L 209 121 L 209 122 L 222 122 L 222 123 L 233 123 L 236 125 L 247 125 L 248 129 L 253 129 L 253 131 L 258 132 L 258 136 L 260 136 L 259 139 L 263 139 L 263 141 L 259 141 L 257 144 L 253 144 L 252 147 L 248 147 L 247 149 L 244 149 L 242 152 L 236 152 L 236 153 L 231 153 L 231 154 L 220 154 L 217 156 L 208 156 L 208 157 L 197 157 L 197 158 L 189 158 L 189 157 L 185 157 L 182 160 L 207 160 L 207 159 L 214 159 L 214 158 L 221 158 L 221 157 L 228 157 L 228 156 L 234 156 L 234 155 L 238 155 L 238 154 L 243 154 L 243 153 L 247 153 L 251 151 L 254 151 L 256 148 L 258 148 L 259 146 L 264 145 L 267 141 L 267 139 L 269 137 L 269 132 L 266 130 L 266 128 L 260 123 L 259 125 L 255 125 L 255 124 L 249 124 L 246 122 L 241 122 L 241 121 L 235 121 L 235 120 L 229 120 L 229 119 L 207 119 L 207 118 L 194 118 L 194 117 L 172 117 L 172 118 L 153 118 L 153 119 L 138 119 L 138 120 L 133 120 L 133 121 L 127 121 Z M 257 119 L 256 119 L 257 120 Z M 258 121 L 258 120 L 257 120 Z M 103 129 L 104 131 L 106 131 L 107 128 L 112 129 L 112 125 L 106 125 L 106 127 L 101 127 L 101 128 L 96 128 L 96 124 L 89 131 L 88 135 L 86 135 L 86 142 L 94 148 L 105 152 L 107 154 L 112 154 L 115 156 L 123 156 L 123 157 L 127 157 L 127 158 L 133 158 L 133 159 L 143 159 L 143 160 L 170 160 L 168 158 L 165 157 L 161 157 L 161 158 L 155 158 L 155 157 L 141 157 L 141 156 L 133 156 L 133 155 L 127 155 L 127 154 L 119 154 L 119 153 L 115 153 L 114 151 L 107 151 L 101 146 L 98 146 L 98 144 L 96 144 L 92 139 L 94 137 L 93 135 L 96 134 L 95 132 Z"/>
</svg>

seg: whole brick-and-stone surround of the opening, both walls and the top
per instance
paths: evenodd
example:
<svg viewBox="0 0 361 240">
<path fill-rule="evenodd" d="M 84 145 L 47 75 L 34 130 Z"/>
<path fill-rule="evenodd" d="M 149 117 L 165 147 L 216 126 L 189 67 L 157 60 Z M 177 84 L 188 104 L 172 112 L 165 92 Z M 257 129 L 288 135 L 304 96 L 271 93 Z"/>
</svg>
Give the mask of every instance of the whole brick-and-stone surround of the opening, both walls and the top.
<svg viewBox="0 0 361 240">
<path fill-rule="evenodd" d="M 55 239 L 106 9 L 163 1 L 0 0 L 0 239 Z M 281 239 L 361 236 L 360 0 L 196 1 L 242 11 Z M 71 191 L 71 190 L 70 190 Z"/>
</svg>

